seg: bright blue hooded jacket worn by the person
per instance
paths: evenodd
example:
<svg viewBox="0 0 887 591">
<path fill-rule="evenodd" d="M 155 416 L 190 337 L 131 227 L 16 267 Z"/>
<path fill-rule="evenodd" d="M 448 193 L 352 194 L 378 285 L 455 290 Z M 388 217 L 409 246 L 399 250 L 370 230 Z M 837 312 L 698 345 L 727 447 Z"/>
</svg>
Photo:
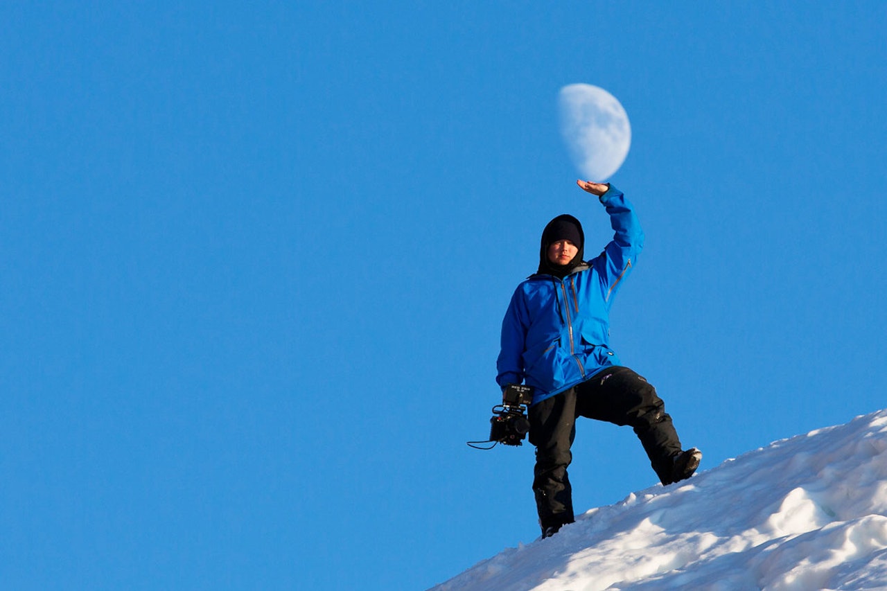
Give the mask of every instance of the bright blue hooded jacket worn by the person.
<svg viewBox="0 0 887 591">
<path fill-rule="evenodd" d="M 604 251 L 563 279 L 537 273 L 522 281 L 502 320 L 496 381 L 503 388 L 532 386 L 534 405 L 620 365 L 609 347 L 609 310 L 643 248 L 644 232 L 632 204 L 615 187 L 600 202 L 616 232 Z"/>
</svg>

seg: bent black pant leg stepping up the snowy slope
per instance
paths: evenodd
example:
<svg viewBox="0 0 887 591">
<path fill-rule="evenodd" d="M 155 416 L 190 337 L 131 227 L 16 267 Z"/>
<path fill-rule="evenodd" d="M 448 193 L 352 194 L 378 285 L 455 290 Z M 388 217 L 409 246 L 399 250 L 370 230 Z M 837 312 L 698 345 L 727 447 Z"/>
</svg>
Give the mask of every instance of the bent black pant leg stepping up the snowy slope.
<svg viewBox="0 0 887 591">
<path fill-rule="evenodd" d="M 613 367 L 579 384 L 577 415 L 630 425 L 644 446 L 656 476 L 671 482 L 680 439 L 655 388 L 628 367 Z"/>
</svg>

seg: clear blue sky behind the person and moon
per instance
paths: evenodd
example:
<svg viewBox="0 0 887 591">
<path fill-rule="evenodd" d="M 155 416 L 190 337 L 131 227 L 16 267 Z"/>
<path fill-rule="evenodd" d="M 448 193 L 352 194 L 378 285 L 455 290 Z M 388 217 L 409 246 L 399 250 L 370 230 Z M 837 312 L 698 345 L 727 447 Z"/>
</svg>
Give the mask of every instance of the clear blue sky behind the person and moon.
<svg viewBox="0 0 887 591">
<path fill-rule="evenodd" d="M 887 406 L 882 2 L 0 9 L 0 579 L 420 589 L 538 535 L 498 329 L 619 98 L 613 345 L 703 469 Z M 653 485 L 582 422 L 577 510 Z M 741 485 L 741 483 L 737 483 Z"/>
</svg>

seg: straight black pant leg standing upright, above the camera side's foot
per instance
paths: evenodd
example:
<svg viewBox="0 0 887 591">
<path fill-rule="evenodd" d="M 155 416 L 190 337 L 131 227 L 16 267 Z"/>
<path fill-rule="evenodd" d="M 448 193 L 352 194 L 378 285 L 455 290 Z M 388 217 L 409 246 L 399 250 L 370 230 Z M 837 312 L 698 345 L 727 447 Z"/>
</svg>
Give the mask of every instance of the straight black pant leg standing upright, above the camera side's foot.
<svg viewBox="0 0 887 591">
<path fill-rule="evenodd" d="M 570 445 L 576 437 L 576 392 L 567 390 L 530 406 L 530 443 L 536 446 L 533 493 L 542 531 L 571 524 L 572 489 L 567 467 Z"/>
</svg>

